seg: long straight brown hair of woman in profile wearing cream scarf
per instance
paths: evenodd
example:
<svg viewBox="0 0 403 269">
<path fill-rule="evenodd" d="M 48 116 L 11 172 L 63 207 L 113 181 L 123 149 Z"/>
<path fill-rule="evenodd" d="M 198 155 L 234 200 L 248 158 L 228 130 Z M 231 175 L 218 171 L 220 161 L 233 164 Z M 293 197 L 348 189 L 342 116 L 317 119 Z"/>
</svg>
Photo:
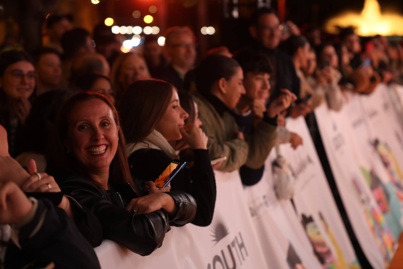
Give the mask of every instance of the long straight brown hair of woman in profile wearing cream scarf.
<svg viewBox="0 0 403 269">
<path fill-rule="evenodd" d="M 158 79 L 141 79 L 127 88 L 120 104 L 128 143 L 146 138 L 160 123 L 172 98 L 172 84 Z"/>
</svg>

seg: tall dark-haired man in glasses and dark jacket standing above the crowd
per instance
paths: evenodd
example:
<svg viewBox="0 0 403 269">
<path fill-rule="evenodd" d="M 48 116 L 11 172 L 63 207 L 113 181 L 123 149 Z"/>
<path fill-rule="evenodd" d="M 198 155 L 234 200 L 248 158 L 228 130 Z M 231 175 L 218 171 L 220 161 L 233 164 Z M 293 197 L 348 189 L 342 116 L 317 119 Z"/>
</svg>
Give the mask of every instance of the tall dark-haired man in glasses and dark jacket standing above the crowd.
<svg viewBox="0 0 403 269">
<path fill-rule="evenodd" d="M 280 25 L 276 11 L 272 8 L 260 8 L 252 16 L 249 33 L 253 38 L 250 47 L 254 50 L 263 52 L 272 65 L 272 75 L 270 76 L 270 85 L 273 89 L 270 100 L 274 100 L 281 94 L 281 89 L 287 89 L 297 97 L 300 92 L 300 81 L 295 73 L 293 61 L 289 55 L 278 49 L 282 40 L 282 30 L 285 25 Z M 305 104 L 301 104 L 305 105 Z M 290 114 L 293 117 L 303 114 L 305 108 L 300 105 L 290 108 Z M 298 112 L 301 113 L 298 113 Z"/>
</svg>

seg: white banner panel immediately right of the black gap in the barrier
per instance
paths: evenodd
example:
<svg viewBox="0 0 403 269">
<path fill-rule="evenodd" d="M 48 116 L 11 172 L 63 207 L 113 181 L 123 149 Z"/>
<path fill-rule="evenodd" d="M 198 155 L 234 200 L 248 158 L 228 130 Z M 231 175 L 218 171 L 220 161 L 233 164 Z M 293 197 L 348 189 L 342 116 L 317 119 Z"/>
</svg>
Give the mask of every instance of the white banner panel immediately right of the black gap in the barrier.
<svg viewBox="0 0 403 269">
<path fill-rule="evenodd" d="M 357 239 L 374 268 L 386 268 L 395 238 L 361 170 L 350 115 L 322 105 L 315 110 L 322 142 L 347 215 Z"/>
</svg>

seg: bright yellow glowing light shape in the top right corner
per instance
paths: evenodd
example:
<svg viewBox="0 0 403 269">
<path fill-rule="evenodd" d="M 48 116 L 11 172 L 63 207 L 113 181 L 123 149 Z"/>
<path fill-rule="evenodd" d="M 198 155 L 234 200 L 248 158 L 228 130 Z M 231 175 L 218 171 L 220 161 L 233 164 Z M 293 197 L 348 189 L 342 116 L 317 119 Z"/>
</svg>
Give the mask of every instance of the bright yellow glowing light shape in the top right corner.
<svg viewBox="0 0 403 269">
<path fill-rule="evenodd" d="M 329 19 L 325 28 L 329 33 L 337 33 L 337 27 L 356 27 L 361 36 L 403 35 L 403 16 L 396 13 L 381 13 L 377 0 L 365 0 L 361 13 L 345 12 Z"/>
</svg>

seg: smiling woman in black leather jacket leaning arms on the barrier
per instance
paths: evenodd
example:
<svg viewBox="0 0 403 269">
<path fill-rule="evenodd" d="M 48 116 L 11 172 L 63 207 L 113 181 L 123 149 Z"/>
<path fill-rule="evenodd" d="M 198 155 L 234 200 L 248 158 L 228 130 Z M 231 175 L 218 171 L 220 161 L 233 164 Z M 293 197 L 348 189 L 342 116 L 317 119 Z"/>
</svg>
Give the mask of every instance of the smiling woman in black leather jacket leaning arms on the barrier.
<svg viewBox="0 0 403 269">
<path fill-rule="evenodd" d="M 196 204 L 185 192 L 157 189 L 139 197 L 130 176 L 126 142 L 118 113 L 105 96 L 79 92 L 62 106 L 48 154 L 49 173 L 62 192 L 98 217 L 103 238 L 142 256 L 162 245 L 170 225 L 195 216 Z M 102 239 L 102 238 L 101 238 Z"/>
</svg>

